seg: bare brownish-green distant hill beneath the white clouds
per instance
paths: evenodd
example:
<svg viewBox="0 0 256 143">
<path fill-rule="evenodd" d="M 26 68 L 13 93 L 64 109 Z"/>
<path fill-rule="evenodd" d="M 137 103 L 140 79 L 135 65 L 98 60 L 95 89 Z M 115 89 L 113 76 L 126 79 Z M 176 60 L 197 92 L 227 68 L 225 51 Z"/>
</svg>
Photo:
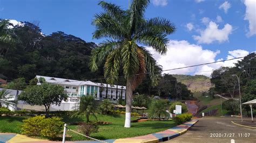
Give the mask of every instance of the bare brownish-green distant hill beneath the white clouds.
<svg viewBox="0 0 256 143">
<path fill-rule="evenodd" d="M 204 75 L 172 75 L 178 82 L 187 85 L 192 92 L 207 91 L 212 85 L 210 78 Z"/>
</svg>

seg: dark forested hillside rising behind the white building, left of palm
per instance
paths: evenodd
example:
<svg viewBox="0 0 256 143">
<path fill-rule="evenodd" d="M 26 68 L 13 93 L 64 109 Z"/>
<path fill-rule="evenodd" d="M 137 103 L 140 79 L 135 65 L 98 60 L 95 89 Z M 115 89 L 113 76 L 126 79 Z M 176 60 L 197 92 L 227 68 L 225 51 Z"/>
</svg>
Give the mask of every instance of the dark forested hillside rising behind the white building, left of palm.
<svg viewBox="0 0 256 143">
<path fill-rule="evenodd" d="M 103 75 L 91 73 L 87 66 L 91 49 L 97 45 L 73 35 L 53 32 L 43 35 L 38 25 L 24 22 L 12 28 L 18 42 L 0 44 L 0 73 L 8 81 L 35 75 L 84 80 Z"/>
</svg>

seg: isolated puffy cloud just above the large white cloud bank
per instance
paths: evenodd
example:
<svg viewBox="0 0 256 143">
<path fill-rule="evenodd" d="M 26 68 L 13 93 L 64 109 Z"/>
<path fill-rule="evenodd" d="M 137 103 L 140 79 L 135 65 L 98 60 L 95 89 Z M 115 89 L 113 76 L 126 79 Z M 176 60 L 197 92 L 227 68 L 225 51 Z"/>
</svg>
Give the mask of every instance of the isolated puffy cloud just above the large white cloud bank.
<svg viewBox="0 0 256 143">
<path fill-rule="evenodd" d="M 226 24 L 224 28 L 219 29 L 219 25 L 210 22 L 205 30 L 200 30 L 200 35 L 193 35 L 194 40 L 199 44 L 211 44 L 214 41 L 228 41 L 228 35 L 232 33 L 232 25 Z"/>
</svg>

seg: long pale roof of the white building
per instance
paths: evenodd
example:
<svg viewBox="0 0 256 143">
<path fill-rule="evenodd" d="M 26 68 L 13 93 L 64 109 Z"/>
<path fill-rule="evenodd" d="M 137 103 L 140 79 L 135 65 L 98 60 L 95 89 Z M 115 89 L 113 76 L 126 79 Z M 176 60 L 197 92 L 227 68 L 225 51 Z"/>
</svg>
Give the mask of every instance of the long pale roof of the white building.
<svg viewBox="0 0 256 143">
<path fill-rule="evenodd" d="M 39 79 L 40 77 L 43 77 L 46 82 L 48 83 L 55 83 L 55 84 L 63 84 L 63 85 L 75 85 L 75 86 L 80 86 L 80 85 L 92 85 L 92 86 L 98 86 L 100 87 L 100 83 L 95 83 L 91 81 L 78 81 L 78 80 L 70 80 L 67 78 L 58 78 L 58 77 L 50 77 L 50 76 L 41 76 L 37 75 L 36 78 Z M 103 87 L 106 87 L 106 84 L 103 83 Z M 108 85 L 110 88 L 110 84 Z M 117 88 L 116 85 L 113 85 L 111 88 Z M 121 89 L 121 86 L 118 85 L 118 89 Z M 125 89 L 125 87 L 123 88 Z"/>
</svg>

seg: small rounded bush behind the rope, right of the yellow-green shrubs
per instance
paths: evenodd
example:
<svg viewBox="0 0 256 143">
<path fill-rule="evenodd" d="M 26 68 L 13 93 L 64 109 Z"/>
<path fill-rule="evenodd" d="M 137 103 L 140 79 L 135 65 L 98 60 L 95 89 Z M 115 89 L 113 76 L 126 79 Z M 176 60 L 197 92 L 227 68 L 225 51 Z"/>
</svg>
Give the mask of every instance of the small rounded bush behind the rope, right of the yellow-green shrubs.
<svg viewBox="0 0 256 143">
<path fill-rule="evenodd" d="M 89 136 L 91 133 L 97 133 L 98 132 L 98 125 L 97 123 L 83 123 L 79 125 L 79 131 L 83 134 Z"/>
</svg>

